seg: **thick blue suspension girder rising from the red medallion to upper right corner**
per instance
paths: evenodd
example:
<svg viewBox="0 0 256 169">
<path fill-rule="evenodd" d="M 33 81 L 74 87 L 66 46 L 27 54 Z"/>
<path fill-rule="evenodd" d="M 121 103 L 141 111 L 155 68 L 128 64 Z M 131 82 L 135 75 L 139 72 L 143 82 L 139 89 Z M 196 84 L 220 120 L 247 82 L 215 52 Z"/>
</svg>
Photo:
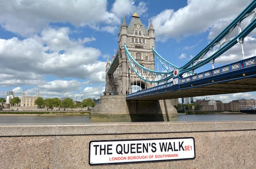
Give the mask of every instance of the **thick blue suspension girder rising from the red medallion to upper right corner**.
<svg viewBox="0 0 256 169">
<path fill-rule="evenodd" d="M 246 37 L 256 27 L 256 20 L 255 20 L 256 14 L 255 14 L 255 11 L 253 11 L 255 8 L 256 8 L 256 0 L 253 0 L 244 9 L 244 11 L 242 11 L 241 14 L 239 14 L 239 16 L 236 17 L 236 19 L 233 20 L 233 22 L 231 22 L 229 26 L 227 26 L 226 29 L 224 29 L 214 40 L 212 40 L 211 43 L 209 43 L 209 45 L 207 45 L 199 54 L 197 54 L 184 66 L 178 68 L 178 71 L 179 71 L 178 75 L 183 74 L 184 72 L 189 72 L 189 71 L 193 72 L 195 69 L 209 62 L 214 63 L 214 60 L 217 57 L 219 57 L 221 54 L 226 52 L 236 43 L 239 42 L 242 44 L 244 37 Z M 241 30 L 241 21 L 243 21 L 246 17 L 249 17 L 251 14 L 254 14 L 254 16 L 252 17 L 250 22 L 247 24 L 247 26 L 244 28 L 244 30 Z M 230 35 L 231 32 L 233 32 L 236 26 L 239 26 L 238 35 L 236 37 L 227 39 L 227 37 Z M 219 45 L 218 49 L 215 52 L 213 52 L 212 48 L 217 45 Z M 202 59 L 209 50 L 211 51 L 211 55 L 205 59 Z"/>
</svg>

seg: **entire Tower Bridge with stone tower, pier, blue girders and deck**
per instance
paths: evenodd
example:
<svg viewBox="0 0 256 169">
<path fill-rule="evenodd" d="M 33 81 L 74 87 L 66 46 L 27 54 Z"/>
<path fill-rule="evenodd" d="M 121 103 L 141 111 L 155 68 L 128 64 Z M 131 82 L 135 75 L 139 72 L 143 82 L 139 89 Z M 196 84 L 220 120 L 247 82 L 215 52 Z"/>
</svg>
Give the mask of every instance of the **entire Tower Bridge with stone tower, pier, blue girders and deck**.
<svg viewBox="0 0 256 169">
<path fill-rule="evenodd" d="M 177 116 L 171 98 L 256 91 L 256 57 L 245 59 L 243 47 L 244 38 L 256 27 L 255 8 L 256 0 L 253 0 L 212 42 L 181 67 L 154 49 L 152 20 L 147 29 L 135 12 L 127 26 L 124 15 L 118 51 L 106 65 L 106 90 L 101 104 L 93 108 L 91 114 L 173 116 L 176 113 Z M 242 22 L 247 24 L 244 28 Z M 235 28 L 238 32 L 232 37 Z M 241 45 L 242 60 L 214 68 L 215 59 L 237 43 Z M 155 58 L 164 71 L 155 71 Z M 208 71 L 195 73 L 207 63 L 212 65 Z M 134 86 L 140 87 L 134 90 Z"/>
</svg>

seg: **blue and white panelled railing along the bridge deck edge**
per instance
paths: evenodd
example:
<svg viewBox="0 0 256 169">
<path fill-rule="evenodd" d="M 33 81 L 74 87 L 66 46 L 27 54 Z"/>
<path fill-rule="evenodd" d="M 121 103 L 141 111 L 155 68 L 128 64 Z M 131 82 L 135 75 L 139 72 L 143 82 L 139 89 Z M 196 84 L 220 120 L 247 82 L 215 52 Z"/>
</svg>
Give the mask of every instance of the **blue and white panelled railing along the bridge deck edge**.
<svg viewBox="0 0 256 169">
<path fill-rule="evenodd" d="M 201 79 L 204 79 L 204 78 L 216 76 L 216 75 L 219 75 L 219 74 L 224 74 L 224 73 L 227 73 L 227 72 L 237 71 L 239 69 L 244 69 L 244 68 L 247 68 L 247 67 L 250 67 L 250 66 L 253 66 L 253 65 L 256 65 L 256 56 L 250 57 L 250 58 L 247 58 L 247 59 L 244 59 L 244 60 L 240 60 L 240 61 L 237 61 L 237 62 L 234 62 L 234 63 L 230 63 L 228 65 L 221 66 L 221 67 L 218 67 L 218 68 L 215 68 L 215 69 L 210 69 L 208 71 L 198 73 L 198 74 L 194 74 L 194 75 L 191 75 L 191 76 L 188 76 L 188 77 L 185 77 L 185 78 L 182 78 L 182 77 L 173 78 L 172 82 L 161 84 L 159 86 L 155 86 L 155 87 L 145 89 L 145 90 L 142 90 L 142 91 L 139 91 L 139 92 L 135 92 L 135 93 L 126 95 L 126 97 L 132 97 L 132 98 L 137 97 L 137 96 L 138 97 L 143 97 L 145 94 L 148 94 L 148 93 L 153 92 L 153 91 L 161 90 L 161 89 L 164 89 L 164 88 L 167 88 L 167 87 L 168 88 L 173 87 L 174 88 L 173 90 L 177 90 L 177 89 L 179 89 L 178 86 L 180 84 L 183 84 L 183 83 L 188 83 L 188 82 L 195 81 L 195 80 L 201 80 Z"/>
</svg>

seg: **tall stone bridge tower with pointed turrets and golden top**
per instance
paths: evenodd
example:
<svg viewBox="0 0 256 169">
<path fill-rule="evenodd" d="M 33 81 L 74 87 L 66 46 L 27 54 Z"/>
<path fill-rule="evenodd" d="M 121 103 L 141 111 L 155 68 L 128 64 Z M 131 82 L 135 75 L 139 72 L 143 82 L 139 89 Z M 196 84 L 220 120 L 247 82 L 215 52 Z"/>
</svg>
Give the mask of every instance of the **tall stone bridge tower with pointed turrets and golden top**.
<svg viewBox="0 0 256 169">
<path fill-rule="evenodd" d="M 146 89 L 154 86 L 154 83 L 148 83 L 141 80 L 132 70 L 125 54 L 124 44 L 128 47 L 132 57 L 142 66 L 154 70 L 154 28 L 152 20 L 148 30 L 140 20 L 139 15 L 132 15 L 131 22 L 127 26 L 125 15 L 118 34 L 119 46 L 119 95 L 127 95 L 131 93 L 131 86 L 140 86 Z"/>
</svg>

